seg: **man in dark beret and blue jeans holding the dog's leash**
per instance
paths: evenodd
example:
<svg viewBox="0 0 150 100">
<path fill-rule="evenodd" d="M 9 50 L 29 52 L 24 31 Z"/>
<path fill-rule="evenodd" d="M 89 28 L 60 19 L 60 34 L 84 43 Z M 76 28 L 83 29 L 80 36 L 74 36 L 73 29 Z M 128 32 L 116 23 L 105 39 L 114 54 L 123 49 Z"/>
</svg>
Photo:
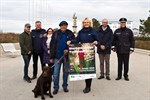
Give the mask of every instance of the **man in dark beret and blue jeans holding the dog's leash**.
<svg viewBox="0 0 150 100">
<path fill-rule="evenodd" d="M 68 82 L 68 68 L 69 68 L 69 59 L 68 59 L 68 45 L 67 41 L 75 38 L 72 31 L 67 29 L 68 23 L 62 21 L 60 24 L 60 29 L 53 33 L 52 40 L 50 43 L 50 62 L 57 63 L 60 58 L 63 59 L 57 63 L 54 67 L 53 77 L 54 77 L 54 91 L 53 94 L 57 94 L 59 90 L 59 75 L 61 64 L 63 63 L 63 89 L 64 92 L 68 92 L 67 82 Z"/>
</svg>

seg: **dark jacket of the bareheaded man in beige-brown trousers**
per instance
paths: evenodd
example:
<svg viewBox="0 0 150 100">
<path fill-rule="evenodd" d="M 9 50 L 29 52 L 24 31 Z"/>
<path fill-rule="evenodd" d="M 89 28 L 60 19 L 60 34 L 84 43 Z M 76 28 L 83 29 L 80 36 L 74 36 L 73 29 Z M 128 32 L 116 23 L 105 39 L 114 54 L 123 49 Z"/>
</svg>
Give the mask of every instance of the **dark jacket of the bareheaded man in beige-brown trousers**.
<svg viewBox="0 0 150 100">
<path fill-rule="evenodd" d="M 105 50 L 102 50 L 100 46 L 97 47 L 98 54 L 110 54 L 111 53 L 111 46 L 113 41 L 113 32 L 109 26 L 107 26 L 106 30 L 102 29 L 102 26 L 98 29 L 98 37 L 100 40 L 101 45 L 105 46 Z"/>
</svg>

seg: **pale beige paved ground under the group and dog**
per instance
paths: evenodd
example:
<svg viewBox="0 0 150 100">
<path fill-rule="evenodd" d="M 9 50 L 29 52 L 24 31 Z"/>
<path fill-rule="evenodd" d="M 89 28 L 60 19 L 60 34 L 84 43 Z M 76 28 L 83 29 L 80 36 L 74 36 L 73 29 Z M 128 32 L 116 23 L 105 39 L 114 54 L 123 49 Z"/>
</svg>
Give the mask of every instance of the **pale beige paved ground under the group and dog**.
<svg viewBox="0 0 150 100">
<path fill-rule="evenodd" d="M 92 90 L 88 94 L 82 92 L 84 81 L 69 81 L 69 93 L 64 93 L 62 87 L 53 100 L 150 100 L 150 56 L 133 53 L 130 57 L 130 81 L 124 79 L 116 81 L 117 60 L 116 54 L 111 55 L 111 81 L 106 79 L 93 79 Z M 31 60 L 32 62 L 32 60 Z M 96 59 L 97 77 L 99 76 L 99 61 Z M 32 63 L 29 68 L 32 76 Z M 39 66 L 39 74 L 41 67 Z M 38 74 L 38 75 L 39 75 Z M 36 80 L 32 83 L 23 81 L 23 60 L 16 58 L 0 57 L 0 100 L 40 100 L 34 99 L 31 90 Z M 62 80 L 60 81 L 60 86 Z M 52 89 L 53 91 L 53 89 Z M 45 96 L 46 100 L 50 99 Z"/>
</svg>

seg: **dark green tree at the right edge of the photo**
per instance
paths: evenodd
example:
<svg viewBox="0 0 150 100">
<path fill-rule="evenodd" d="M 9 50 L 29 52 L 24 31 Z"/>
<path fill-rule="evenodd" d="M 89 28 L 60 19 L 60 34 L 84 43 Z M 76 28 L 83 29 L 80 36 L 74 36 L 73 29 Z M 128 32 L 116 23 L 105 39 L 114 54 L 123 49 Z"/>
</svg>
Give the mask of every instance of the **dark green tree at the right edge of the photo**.
<svg viewBox="0 0 150 100">
<path fill-rule="evenodd" d="M 142 36 L 148 36 L 150 35 L 150 17 L 148 17 L 146 20 L 140 19 L 140 26 L 139 31 Z"/>
</svg>

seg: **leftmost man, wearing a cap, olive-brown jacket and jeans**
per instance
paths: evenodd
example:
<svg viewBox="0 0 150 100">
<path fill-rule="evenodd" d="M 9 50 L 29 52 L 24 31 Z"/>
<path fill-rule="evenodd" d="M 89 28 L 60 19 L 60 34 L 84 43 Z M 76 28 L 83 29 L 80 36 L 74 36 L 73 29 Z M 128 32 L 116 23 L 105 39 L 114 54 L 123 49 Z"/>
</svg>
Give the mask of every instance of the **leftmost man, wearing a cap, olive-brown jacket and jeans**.
<svg viewBox="0 0 150 100">
<path fill-rule="evenodd" d="M 30 77 L 28 76 L 28 67 L 31 58 L 32 52 L 32 40 L 30 35 L 30 24 L 25 24 L 25 29 L 22 34 L 19 36 L 19 43 L 21 47 L 21 55 L 24 60 L 24 77 L 23 79 L 28 83 L 31 83 Z"/>
</svg>

